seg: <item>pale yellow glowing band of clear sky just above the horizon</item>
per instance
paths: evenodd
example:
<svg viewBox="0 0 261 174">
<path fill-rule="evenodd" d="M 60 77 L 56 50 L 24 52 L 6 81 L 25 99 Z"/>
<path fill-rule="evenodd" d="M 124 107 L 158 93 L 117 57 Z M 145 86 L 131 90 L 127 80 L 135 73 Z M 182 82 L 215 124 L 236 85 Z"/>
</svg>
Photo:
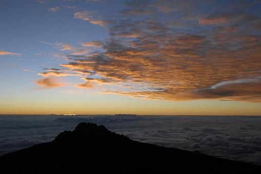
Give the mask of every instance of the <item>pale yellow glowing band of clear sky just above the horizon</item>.
<svg viewBox="0 0 261 174">
<path fill-rule="evenodd" d="M 82 115 L 260 115 L 261 103 L 195 100 L 163 101 L 129 98 L 118 95 L 54 95 L 44 98 L 6 98 L 0 101 L 0 114 L 82 114 Z"/>
</svg>

